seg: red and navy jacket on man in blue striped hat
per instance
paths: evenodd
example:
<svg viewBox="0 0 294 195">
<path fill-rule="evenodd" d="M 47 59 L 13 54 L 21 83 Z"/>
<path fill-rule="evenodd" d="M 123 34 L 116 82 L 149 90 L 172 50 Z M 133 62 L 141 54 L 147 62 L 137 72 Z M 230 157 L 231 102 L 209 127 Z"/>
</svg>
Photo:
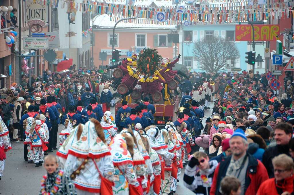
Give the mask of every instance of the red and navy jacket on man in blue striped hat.
<svg viewBox="0 0 294 195">
<path fill-rule="evenodd" d="M 249 153 L 248 156 L 248 166 L 245 178 L 245 195 L 254 195 L 257 193 L 259 186 L 268 179 L 268 172 L 265 166 L 259 160 L 256 160 Z M 214 171 L 212 185 L 210 189 L 210 195 L 219 195 L 220 181 L 225 177 L 228 170 L 232 156 L 224 158 Z"/>
</svg>

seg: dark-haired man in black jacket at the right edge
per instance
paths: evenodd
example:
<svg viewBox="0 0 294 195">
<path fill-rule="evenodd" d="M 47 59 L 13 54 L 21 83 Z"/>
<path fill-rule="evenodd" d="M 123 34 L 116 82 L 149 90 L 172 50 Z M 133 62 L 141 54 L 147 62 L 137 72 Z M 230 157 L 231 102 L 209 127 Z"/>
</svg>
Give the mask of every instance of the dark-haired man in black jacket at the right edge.
<svg viewBox="0 0 294 195">
<path fill-rule="evenodd" d="M 292 138 L 293 129 L 288 123 L 279 123 L 275 126 L 275 141 L 276 146 L 269 147 L 263 154 L 263 164 L 268 171 L 270 178 L 274 177 L 274 168 L 272 159 L 280 154 L 286 154 L 290 156 L 289 143 Z"/>
</svg>

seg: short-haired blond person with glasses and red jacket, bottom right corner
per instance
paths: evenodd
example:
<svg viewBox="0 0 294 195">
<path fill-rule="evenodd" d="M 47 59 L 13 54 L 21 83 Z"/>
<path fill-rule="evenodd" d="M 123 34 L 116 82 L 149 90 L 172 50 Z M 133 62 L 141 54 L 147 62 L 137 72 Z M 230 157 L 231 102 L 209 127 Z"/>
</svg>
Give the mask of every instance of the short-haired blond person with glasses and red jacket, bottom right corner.
<svg viewBox="0 0 294 195">
<path fill-rule="evenodd" d="M 280 154 L 272 160 L 275 178 L 263 182 L 258 189 L 258 195 L 293 194 L 293 159 L 286 154 Z M 287 193 L 288 192 L 288 193 Z"/>
</svg>

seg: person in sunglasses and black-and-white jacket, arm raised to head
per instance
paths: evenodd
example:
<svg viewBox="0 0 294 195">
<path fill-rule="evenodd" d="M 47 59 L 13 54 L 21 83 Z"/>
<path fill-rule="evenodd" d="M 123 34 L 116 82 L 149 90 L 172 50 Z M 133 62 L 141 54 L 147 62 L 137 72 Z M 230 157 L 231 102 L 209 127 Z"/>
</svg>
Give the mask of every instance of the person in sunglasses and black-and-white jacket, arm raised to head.
<svg viewBox="0 0 294 195">
<path fill-rule="evenodd" d="M 213 173 L 217 165 L 218 162 L 216 160 L 209 161 L 206 153 L 195 152 L 185 169 L 184 186 L 195 194 L 208 195 L 211 188 L 210 181 L 213 178 Z"/>
</svg>

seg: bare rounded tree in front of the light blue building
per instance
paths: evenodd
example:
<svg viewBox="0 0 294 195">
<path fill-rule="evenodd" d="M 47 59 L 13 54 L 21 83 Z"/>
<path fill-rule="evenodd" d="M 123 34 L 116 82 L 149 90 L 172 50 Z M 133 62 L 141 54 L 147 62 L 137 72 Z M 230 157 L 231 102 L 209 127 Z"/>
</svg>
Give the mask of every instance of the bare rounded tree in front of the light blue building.
<svg viewBox="0 0 294 195">
<path fill-rule="evenodd" d="M 219 36 L 203 38 L 194 43 L 193 54 L 199 67 L 206 72 L 216 73 L 225 70 L 227 60 L 237 60 L 240 52 L 233 41 L 227 41 Z"/>
</svg>

